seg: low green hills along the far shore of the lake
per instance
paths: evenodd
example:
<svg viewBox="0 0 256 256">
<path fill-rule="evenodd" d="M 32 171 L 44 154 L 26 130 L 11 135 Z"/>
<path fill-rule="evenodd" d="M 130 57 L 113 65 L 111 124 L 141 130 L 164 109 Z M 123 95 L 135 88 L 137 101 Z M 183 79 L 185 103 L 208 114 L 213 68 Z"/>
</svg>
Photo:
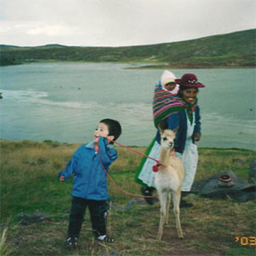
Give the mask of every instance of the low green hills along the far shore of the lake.
<svg viewBox="0 0 256 256">
<path fill-rule="evenodd" d="M 254 67 L 255 35 L 256 30 L 249 30 L 183 42 L 122 47 L 0 45 L 1 64 L 61 60 L 147 62 L 176 68 Z"/>
</svg>

